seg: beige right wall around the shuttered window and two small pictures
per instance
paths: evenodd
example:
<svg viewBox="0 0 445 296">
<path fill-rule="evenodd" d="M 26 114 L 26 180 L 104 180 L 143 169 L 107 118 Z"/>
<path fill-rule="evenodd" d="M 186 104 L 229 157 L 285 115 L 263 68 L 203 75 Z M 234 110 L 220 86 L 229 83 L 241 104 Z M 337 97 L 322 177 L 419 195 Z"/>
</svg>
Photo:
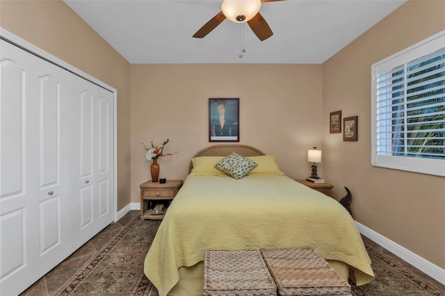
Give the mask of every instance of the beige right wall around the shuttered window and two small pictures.
<svg viewBox="0 0 445 296">
<path fill-rule="evenodd" d="M 323 63 L 323 168 L 355 219 L 445 268 L 445 178 L 371 166 L 371 65 L 445 29 L 445 1 L 408 1 Z M 358 115 L 358 142 L 329 133 L 329 113 Z"/>
</svg>

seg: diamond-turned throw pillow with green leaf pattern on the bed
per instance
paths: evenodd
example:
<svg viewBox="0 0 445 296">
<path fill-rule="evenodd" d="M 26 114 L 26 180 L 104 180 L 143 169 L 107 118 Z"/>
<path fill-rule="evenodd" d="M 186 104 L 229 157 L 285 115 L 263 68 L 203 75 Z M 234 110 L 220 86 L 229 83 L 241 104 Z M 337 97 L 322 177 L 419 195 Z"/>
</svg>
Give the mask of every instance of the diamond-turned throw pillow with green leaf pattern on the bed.
<svg viewBox="0 0 445 296">
<path fill-rule="evenodd" d="M 234 179 L 241 179 L 251 170 L 257 167 L 257 163 L 244 156 L 232 152 L 229 156 L 215 165 L 216 169 L 225 172 Z"/>
</svg>

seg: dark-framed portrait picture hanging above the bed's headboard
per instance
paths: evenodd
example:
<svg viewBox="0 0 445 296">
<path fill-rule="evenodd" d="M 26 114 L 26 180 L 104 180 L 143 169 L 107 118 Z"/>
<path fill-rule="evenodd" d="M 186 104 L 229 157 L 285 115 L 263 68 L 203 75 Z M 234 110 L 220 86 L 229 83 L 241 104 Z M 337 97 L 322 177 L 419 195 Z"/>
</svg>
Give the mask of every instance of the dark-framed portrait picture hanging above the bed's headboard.
<svg viewBox="0 0 445 296">
<path fill-rule="evenodd" d="M 239 142 L 239 99 L 209 99 L 209 142 Z"/>
</svg>

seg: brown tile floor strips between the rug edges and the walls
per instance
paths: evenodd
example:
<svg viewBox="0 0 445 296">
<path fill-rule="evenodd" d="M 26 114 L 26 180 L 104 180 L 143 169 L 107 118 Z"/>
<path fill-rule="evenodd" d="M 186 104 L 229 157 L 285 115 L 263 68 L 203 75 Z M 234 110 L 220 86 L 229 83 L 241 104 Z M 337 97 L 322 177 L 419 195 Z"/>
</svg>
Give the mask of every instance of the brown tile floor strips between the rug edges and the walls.
<svg viewBox="0 0 445 296">
<path fill-rule="evenodd" d="M 71 256 L 66 258 L 65 261 L 63 261 L 53 270 L 45 274 L 44 277 L 35 282 L 33 286 L 29 287 L 21 295 L 54 295 L 58 288 L 63 286 L 63 284 L 67 282 L 76 273 L 76 271 L 83 266 L 83 264 L 85 264 L 97 251 L 99 251 L 99 249 L 101 249 L 102 245 L 105 242 L 108 242 L 108 240 L 113 238 L 113 236 L 115 236 L 115 233 L 117 233 L 119 229 L 122 229 L 122 227 L 124 227 L 128 222 L 133 220 L 133 217 L 136 217 L 139 214 L 139 211 L 130 211 L 118 222 L 110 224 L 108 227 L 106 227 L 106 229 L 98 233 L 94 238 L 86 242 L 85 245 L 80 247 Z M 375 242 L 373 242 L 372 240 L 364 238 L 364 242 L 366 245 L 374 245 L 375 248 L 379 249 L 381 252 L 384 252 L 388 256 L 391 256 L 391 258 L 394 258 L 394 261 L 401 263 L 401 265 L 405 266 L 405 268 L 412 270 L 414 273 L 418 274 L 419 277 L 425 279 L 429 283 L 432 283 L 435 286 L 443 286 L 435 279 L 428 277 L 428 275 L 424 274 L 420 270 L 417 270 L 412 265 L 403 261 L 401 258 L 398 258 L 383 247 L 375 244 Z"/>
</svg>

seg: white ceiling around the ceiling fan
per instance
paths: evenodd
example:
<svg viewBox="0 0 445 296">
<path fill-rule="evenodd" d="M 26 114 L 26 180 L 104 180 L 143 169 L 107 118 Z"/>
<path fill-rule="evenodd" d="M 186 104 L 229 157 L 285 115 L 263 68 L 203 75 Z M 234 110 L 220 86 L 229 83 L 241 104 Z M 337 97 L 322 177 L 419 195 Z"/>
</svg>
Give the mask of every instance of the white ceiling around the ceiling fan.
<svg viewBox="0 0 445 296">
<path fill-rule="evenodd" d="M 286 0 L 262 3 L 274 35 L 259 41 L 225 19 L 192 35 L 222 0 L 64 0 L 129 63 L 323 63 L 406 0 Z M 241 54 L 241 40 L 246 52 Z"/>
</svg>

